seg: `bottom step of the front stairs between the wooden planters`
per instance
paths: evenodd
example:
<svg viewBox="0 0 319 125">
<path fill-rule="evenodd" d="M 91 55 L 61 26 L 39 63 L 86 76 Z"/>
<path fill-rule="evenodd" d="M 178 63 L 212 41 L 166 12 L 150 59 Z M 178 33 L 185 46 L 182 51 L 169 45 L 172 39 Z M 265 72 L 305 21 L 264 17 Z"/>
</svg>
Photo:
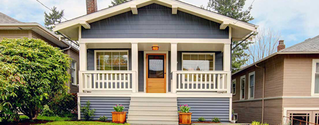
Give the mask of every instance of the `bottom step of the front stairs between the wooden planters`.
<svg viewBox="0 0 319 125">
<path fill-rule="evenodd" d="M 135 118 L 127 119 L 130 124 L 178 124 L 178 119 L 176 120 L 159 120 L 159 119 L 146 119 L 146 118 Z"/>
</svg>

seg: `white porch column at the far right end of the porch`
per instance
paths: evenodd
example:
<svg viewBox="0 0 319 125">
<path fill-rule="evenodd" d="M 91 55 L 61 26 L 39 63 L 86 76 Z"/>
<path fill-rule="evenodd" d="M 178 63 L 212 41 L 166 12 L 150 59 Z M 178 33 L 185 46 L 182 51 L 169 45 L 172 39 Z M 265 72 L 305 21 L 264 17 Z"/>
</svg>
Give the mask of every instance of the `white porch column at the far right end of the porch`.
<svg viewBox="0 0 319 125">
<path fill-rule="evenodd" d="M 227 93 L 231 93 L 231 44 L 224 44 L 224 71 L 227 73 Z"/>
</svg>

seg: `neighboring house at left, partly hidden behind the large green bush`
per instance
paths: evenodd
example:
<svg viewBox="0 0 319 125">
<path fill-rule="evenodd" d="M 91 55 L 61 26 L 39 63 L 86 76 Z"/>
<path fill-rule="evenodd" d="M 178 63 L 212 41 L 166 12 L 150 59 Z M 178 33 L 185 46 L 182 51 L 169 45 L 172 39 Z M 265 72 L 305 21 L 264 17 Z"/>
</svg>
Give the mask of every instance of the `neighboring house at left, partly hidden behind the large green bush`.
<svg viewBox="0 0 319 125">
<path fill-rule="evenodd" d="M 63 50 L 72 58 L 69 73 L 71 75 L 70 87 L 68 92 L 78 92 L 78 70 L 79 70 L 79 49 L 77 45 L 66 40 L 60 40 L 61 37 L 36 22 L 21 22 L 2 12 L 0 12 L 0 41 L 3 38 L 39 38 L 54 47 Z"/>
</svg>

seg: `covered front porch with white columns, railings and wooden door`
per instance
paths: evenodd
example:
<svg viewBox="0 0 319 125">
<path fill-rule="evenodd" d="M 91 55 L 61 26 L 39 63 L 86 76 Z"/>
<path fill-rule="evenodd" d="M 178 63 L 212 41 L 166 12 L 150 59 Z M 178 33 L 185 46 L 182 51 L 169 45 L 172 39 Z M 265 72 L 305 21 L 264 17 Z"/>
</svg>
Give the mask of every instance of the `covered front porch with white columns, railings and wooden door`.
<svg viewBox="0 0 319 125">
<path fill-rule="evenodd" d="M 79 41 L 79 94 L 231 93 L 231 39 Z"/>
</svg>

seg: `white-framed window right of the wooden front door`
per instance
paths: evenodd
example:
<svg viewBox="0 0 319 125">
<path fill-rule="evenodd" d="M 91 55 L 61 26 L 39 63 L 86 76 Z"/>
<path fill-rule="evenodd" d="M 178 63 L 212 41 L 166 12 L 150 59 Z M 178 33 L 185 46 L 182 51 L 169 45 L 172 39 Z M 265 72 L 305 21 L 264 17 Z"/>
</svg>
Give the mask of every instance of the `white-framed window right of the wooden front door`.
<svg viewBox="0 0 319 125">
<path fill-rule="evenodd" d="M 182 53 L 183 70 L 215 70 L 215 53 Z"/>
</svg>

